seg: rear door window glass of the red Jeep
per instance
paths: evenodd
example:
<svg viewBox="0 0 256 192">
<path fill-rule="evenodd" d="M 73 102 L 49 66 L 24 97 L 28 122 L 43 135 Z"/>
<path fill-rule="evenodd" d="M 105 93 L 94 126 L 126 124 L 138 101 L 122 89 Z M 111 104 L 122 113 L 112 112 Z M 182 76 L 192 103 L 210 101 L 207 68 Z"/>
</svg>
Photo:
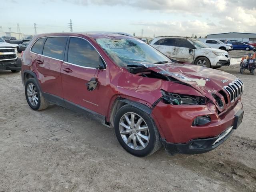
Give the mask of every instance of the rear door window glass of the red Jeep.
<svg viewBox="0 0 256 192">
<path fill-rule="evenodd" d="M 49 37 L 44 44 L 43 55 L 62 59 L 66 45 L 66 37 Z"/>
</svg>

